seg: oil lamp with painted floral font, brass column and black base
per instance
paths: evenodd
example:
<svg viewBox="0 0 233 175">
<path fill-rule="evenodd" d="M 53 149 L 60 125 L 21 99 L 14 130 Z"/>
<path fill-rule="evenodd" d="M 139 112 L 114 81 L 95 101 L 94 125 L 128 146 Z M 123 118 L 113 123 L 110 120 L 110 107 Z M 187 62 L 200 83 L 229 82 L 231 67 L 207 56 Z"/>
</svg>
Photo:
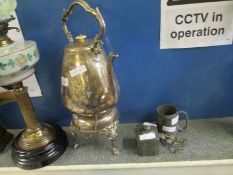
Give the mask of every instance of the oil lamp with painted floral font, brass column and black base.
<svg viewBox="0 0 233 175">
<path fill-rule="evenodd" d="M 59 158 L 67 147 L 67 136 L 61 127 L 39 122 L 27 88 L 22 80 L 31 76 L 39 60 L 36 42 L 13 42 L 7 33 L 14 20 L 10 13 L 16 0 L 0 0 L 0 86 L 12 90 L 27 128 L 13 141 L 12 158 L 23 169 L 43 167 Z"/>
</svg>

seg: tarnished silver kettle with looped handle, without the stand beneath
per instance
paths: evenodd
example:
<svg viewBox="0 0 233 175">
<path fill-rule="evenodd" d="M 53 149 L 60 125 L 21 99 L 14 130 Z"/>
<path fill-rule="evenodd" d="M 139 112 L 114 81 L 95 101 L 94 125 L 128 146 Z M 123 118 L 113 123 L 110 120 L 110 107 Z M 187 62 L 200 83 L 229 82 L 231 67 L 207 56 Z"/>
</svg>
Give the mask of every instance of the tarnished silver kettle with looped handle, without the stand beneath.
<svg viewBox="0 0 233 175">
<path fill-rule="evenodd" d="M 100 33 L 94 39 L 79 35 L 73 40 L 66 22 L 77 6 L 82 6 L 94 15 L 100 24 Z M 85 1 L 75 1 L 63 14 L 63 29 L 70 41 L 64 51 L 62 67 L 62 98 L 72 112 L 84 116 L 94 116 L 113 108 L 118 100 L 118 85 L 112 63 L 117 57 L 110 53 L 107 57 L 101 38 L 105 23 L 98 10 L 92 9 Z"/>
</svg>

